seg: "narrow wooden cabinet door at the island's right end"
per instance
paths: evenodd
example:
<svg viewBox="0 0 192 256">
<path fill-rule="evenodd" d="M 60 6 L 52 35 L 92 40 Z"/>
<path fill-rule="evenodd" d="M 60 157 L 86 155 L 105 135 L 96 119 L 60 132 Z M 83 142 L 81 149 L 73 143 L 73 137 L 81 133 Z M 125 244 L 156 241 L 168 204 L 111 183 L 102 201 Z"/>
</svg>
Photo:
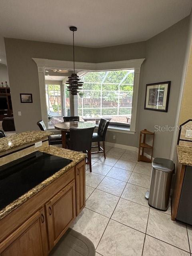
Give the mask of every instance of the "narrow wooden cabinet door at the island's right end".
<svg viewBox="0 0 192 256">
<path fill-rule="evenodd" d="M 85 206 L 85 161 L 80 162 L 75 168 L 76 186 L 76 216 Z"/>
</svg>

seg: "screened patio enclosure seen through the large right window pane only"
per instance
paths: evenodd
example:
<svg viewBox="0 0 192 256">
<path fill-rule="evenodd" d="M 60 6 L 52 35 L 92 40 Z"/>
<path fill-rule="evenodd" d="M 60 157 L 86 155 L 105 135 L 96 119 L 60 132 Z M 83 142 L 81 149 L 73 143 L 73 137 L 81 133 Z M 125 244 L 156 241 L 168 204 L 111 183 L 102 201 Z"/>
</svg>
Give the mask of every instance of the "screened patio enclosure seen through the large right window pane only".
<svg viewBox="0 0 192 256">
<path fill-rule="evenodd" d="M 84 120 L 109 118 L 111 123 L 130 124 L 134 69 L 87 72 L 78 96 L 78 115 Z"/>
</svg>

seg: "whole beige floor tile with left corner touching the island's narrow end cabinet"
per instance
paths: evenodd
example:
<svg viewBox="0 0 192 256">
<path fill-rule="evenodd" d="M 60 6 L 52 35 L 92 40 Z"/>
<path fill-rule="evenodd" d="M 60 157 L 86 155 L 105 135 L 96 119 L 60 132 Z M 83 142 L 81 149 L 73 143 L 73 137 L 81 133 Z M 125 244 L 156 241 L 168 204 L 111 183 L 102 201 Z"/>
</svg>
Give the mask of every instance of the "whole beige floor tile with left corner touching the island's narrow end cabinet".
<svg viewBox="0 0 192 256">
<path fill-rule="evenodd" d="M 118 196 L 96 189 L 86 201 L 86 208 L 110 218 L 118 200 Z"/>
</svg>

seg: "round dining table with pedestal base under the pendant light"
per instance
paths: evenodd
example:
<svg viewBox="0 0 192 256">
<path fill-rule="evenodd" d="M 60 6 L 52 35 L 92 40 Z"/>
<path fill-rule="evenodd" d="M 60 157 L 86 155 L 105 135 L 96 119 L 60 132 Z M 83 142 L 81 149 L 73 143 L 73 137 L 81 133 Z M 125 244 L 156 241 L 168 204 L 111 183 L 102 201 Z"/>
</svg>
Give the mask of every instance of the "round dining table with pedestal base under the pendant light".
<svg viewBox="0 0 192 256">
<path fill-rule="evenodd" d="M 55 129 L 61 131 L 62 138 L 62 148 L 66 148 L 66 134 L 70 132 L 70 129 L 86 129 L 86 128 L 95 128 L 95 124 L 91 122 L 78 122 L 74 124 L 74 121 L 70 122 L 60 122 L 55 124 Z"/>
</svg>

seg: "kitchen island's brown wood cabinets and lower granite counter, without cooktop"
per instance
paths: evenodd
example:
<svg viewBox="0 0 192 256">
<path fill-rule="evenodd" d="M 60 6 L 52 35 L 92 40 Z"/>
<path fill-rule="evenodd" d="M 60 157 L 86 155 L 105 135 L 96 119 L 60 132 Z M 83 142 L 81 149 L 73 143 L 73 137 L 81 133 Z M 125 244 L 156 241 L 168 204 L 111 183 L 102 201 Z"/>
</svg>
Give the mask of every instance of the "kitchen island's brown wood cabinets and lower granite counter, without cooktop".
<svg viewBox="0 0 192 256">
<path fill-rule="evenodd" d="M 56 146 L 37 149 L 72 161 L 0 210 L 1 256 L 48 255 L 85 206 L 86 154 Z"/>
</svg>

